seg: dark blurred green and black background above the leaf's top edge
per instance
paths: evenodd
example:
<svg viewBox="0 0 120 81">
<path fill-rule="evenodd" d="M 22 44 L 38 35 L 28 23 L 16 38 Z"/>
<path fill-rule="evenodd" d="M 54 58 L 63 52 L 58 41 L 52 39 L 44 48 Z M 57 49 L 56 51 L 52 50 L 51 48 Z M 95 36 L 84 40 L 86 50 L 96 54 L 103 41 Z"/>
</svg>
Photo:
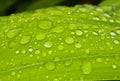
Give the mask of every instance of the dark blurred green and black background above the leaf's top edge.
<svg viewBox="0 0 120 81">
<path fill-rule="evenodd" d="M 76 4 L 86 3 L 97 5 L 101 1 L 102 0 L 0 0 L 0 16 L 57 5 L 74 6 Z"/>
</svg>

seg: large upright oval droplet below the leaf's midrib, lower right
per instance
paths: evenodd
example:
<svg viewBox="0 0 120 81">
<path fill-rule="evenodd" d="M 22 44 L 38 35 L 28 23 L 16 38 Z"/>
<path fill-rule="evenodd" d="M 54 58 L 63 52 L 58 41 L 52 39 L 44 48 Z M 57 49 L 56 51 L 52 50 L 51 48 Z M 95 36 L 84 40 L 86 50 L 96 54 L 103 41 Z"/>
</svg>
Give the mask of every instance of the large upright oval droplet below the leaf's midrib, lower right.
<svg viewBox="0 0 120 81">
<path fill-rule="evenodd" d="M 81 69 L 84 74 L 90 74 L 92 71 L 92 65 L 90 62 L 83 62 L 81 65 Z"/>
</svg>

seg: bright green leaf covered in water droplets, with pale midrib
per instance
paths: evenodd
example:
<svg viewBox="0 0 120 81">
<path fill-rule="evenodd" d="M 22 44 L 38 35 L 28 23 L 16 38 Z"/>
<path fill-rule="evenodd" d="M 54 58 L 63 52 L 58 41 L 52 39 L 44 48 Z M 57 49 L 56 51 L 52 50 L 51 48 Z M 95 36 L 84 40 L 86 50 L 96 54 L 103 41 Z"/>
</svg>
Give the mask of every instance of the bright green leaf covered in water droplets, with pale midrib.
<svg viewBox="0 0 120 81">
<path fill-rule="evenodd" d="M 76 5 L 0 17 L 0 80 L 120 80 L 116 13 Z"/>
</svg>

